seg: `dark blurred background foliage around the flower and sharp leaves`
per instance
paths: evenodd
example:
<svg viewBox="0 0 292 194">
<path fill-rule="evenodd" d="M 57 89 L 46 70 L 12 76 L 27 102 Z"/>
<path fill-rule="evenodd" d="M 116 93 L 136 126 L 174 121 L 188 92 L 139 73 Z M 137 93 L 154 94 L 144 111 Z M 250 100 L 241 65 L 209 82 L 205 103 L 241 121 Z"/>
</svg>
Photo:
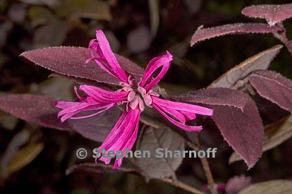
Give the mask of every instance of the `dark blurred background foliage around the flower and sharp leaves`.
<svg viewBox="0 0 292 194">
<path fill-rule="evenodd" d="M 228 35 L 190 47 L 192 34 L 200 26 L 211 27 L 238 22 L 265 22 L 241 15 L 245 6 L 284 4 L 289 1 L 160 1 L 159 26 L 151 38 L 151 16 L 148 1 L 43 1 L 0 0 L 0 95 L 39 93 L 60 99 L 74 99 L 73 83 L 59 78 L 47 79 L 50 71 L 19 57 L 23 51 L 53 45 L 88 46 L 96 29 L 103 29 L 114 52 L 142 67 L 168 50 L 173 63 L 161 82 L 170 93 L 182 93 L 206 87 L 218 76 L 243 60 L 280 42 L 271 34 Z M 94 2 L 94 3 L 92 3 Z M 155 2 L 155 1 L 153 1 Z M 94 5 L 94 6 L 93 6 Z M 104 6 L 103 9 L 100 7 Z M 99 7 L 99 8 L 98 8 Z M 107 12 L 106 9 L 110 12 Z M 157 20 L 154 20 L 157 22 Z M 292 38 L 292 20 L 284 22 Z M 292 78 L 292 56 L 283 48 L 272 62 L 271 69 Z M 84 162 L 75 157 L 79 147 L 94 148 L 97 143 L 75 133 L 43 128 L 0 112 L 0 158 L 12 155 L 8 145 L 21 141 L 21 148 L 32 148 L 35 156 L 16 161 L 14 170 L 2 173 L 1 193 L 182 193 L 158 180 L 146 183 L 143 178 L 127 174 L 74 173 L 66 176 L 68 166 Z M 19 134 L 18 136 L 16 136 Z M 20 136 L 20 137 L 19 137 Z M 246 174 L 253 182 L 292 178 L 292 140 L 265 152 L 249 171 L 243 162 L 228 164 L 232 149 L 217 131 L 202 133 L 206 146 L 217 147 L 218 154 L 210 160 L 216 182 L 226 183 L 235 175 Z M 14 141 L 12 141 L 14 139 Z M 13 147 L 13 146 L 12 146 Z M 28 147 L 28 152 L 31 147 Z M 40 152 L 40 154 L 38 154 Z M 27 155 L 25 155 L 27 156 Z M 30 162 L 30 160 L 32 160 Z M 177 170 L 180 180 L 202 187 L 205 176 L 198 159 L 185 159 Z"/>
</svg>

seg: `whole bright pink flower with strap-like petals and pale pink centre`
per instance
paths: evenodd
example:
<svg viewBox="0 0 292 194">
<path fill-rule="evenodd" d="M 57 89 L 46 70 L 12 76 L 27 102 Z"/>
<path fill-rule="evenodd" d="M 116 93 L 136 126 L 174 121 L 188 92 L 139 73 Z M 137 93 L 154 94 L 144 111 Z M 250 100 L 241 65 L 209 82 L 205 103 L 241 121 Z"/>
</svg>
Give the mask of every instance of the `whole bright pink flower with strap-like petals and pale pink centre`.
<svg viewBox="0 0 292 194">
<path fill-rule="evenodd" d="M 195 119 L 196 114 L 212 115 L 213 110 L 211 109 L 164 100 L 159 98 L 159 94 L 154 91 L 154 87 L 163 78 L 172 61 L 169 52 L 152 59 L 145 69 L 143 77 L 137 83 L 133 75 L 121 68 L 101 30 L 97 30 L 96 39 L 90 41 L 89 51 L 92 57 L 85 63 L 94 60 L 100 68 L 121 81 L 121 89 L 107 91 L 96 86 L 81 85 L 80 89 L 88 95 L 87 97 L 81 96 L 75 87 L 76 95 L 81 102 L 58 101 L 56 107 L 63 109 L 59 112 L 58 117 L 61 117 L 61 122 L 64 122 L 66 119 L 93 117 L 116 105 L 123 105 L 125 110 L 99 147 L 100 151 L 104 149 L 115 153 L 117 151 L 125 153 L 126 149 L 132 149 L 138 133 L 140 114 L 145 105 L 156 109 L 171 123 L 187 131 L 200 131 L 202 129 L 202 126 L 186 124 L 186 121 Z M 159 68 L 161 68 L 160 72 L 156 77 L 153 77 L 154 72 Z M 76 116 L 84 111 L 96 112 L 87 116 Z M 121 166 L 123 158 L 124 156 L 115 161 L 114 169 Z M 102 156 L 99 160 L 105 164 L 111 162 L 111 158 L 106 156 Z"/>
</svg>

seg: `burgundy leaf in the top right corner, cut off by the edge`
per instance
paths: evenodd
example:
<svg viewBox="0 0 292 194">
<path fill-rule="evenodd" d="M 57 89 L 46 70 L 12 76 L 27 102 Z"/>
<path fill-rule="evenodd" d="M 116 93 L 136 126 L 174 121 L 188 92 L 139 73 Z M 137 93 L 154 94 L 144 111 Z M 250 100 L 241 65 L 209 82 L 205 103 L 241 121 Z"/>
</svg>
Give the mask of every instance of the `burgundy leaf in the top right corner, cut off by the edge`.
<svg viewBox="0 0 292 194">
<path fill-rule="evenodd" d="M 273 26 L 292 17 L 292 4 L 249 6 L 242 10 L 242 14 L 251 18 L 264 18 Z"/>
</svg>

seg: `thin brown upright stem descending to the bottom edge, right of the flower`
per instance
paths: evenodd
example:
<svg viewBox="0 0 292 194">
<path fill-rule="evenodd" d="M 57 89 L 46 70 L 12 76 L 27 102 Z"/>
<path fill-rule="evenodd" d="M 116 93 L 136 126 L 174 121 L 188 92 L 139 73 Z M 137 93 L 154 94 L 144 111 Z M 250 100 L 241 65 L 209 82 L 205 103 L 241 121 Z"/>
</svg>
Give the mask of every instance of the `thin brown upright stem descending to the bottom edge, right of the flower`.
<svg viewBox="0 0 292 194">
<path fill-rule="evenodd" d="M 196 141 L 196 144 L 197 144 L 197 148 L 200 149 L 201 148 L 200 133 L 196 133 L 195 135 L 196 135 L 195 136 L 195 141 Z M 218 192 L 217 192 L 216 185 L 215 185 L 215 182 L 214 182 L 211 170 L 210 170 L 210 166 L 209 166 L 208 160 L 207 160 L 206 157 L 200 158 L 200 160 L 201 160 L 201 163 L 203 165 L 203 169 L 205 171 L 205 175 L 206 175 L 206 178 L 207 178 L 207 181 L 208 181 L 208 184 L 209 184 L 209 189 L 210 189 L 212 194 L 217 194 Z"/>
</svg>

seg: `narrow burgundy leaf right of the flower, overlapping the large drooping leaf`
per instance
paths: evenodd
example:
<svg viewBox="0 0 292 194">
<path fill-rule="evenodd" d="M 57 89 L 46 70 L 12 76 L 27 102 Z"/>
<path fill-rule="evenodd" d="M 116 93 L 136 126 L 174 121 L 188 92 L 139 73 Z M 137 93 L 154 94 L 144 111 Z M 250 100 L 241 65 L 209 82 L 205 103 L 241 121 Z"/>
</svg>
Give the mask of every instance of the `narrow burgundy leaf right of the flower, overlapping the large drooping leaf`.
<svg viewBox="0 0 292 194">
<path fill-rule="evenodd" d="M 207 88 L 171 97 L 179 101 L 201 103 L 205 105 L 226 105 L 243 109 L 248 96 L 238 90 L 229 88 Z"/>
</svg>

